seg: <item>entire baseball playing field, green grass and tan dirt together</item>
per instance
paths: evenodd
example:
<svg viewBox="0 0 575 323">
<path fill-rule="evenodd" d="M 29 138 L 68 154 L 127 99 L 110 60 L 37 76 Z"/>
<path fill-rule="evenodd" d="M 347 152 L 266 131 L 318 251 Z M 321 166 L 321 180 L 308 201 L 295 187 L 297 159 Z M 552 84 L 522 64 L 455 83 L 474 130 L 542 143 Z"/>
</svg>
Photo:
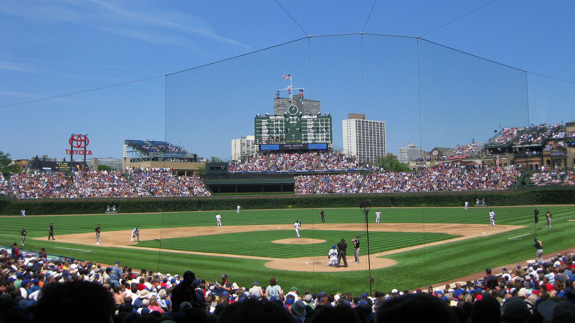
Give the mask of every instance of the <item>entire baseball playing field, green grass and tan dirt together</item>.
<svg viewBox="0 0 575 323">
<path fill-rule="evenodd" d="M 533 238 L 543 241 L 544 253 L 575 247 L 575 206 L 493 207 L 496 226 L 489 225 L 486 207 L 373 207 L 369 218 L 369 248 L 373 290 L 415 289 L 505 264 L 534 259 Z M 553 213 L 551 228 L 545 212 Z M 264 287 L 275 277 L 283 289 L 297 286 L 313 291 L 359 293 L 369 290 L 367 234 L 359 209 L 236 210 L 216 212 L 91 214 L 66 216 L 19 215 L 0 218 L 0 245 L 21 245 L 24 251 L 45 247 L 48 253 L 92 260 L 120 262 L 139 271 L 182 274 L 186 270 L 208 281 L 227 274 L 230 282 Z M 376 224 L 374 213 L 382 213 Z M 302 222 L 300 239 L 293 224 Z M 48 241 L 54 225 L 56 240 Z M 102 241 L 95 244 L 95 227 L 102 225 Z M 141 241 L 130 241 L 134 228 Z M 536 231 L 536 228 L 541 228 Z M 359 263 L 352 263 L 351 239 L 360 236 Z M 327 265 L 332 244 L 345 239 L 347 268 Z"/>
</svg>

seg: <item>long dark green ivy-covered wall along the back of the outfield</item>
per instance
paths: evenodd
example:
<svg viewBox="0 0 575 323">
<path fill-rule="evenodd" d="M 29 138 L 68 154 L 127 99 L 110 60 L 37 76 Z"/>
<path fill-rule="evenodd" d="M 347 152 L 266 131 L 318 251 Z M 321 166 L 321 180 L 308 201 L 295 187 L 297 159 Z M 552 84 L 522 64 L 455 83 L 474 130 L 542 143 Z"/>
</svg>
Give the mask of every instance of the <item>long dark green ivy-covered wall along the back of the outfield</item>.
<svg viewBox="0 0 575 323">
<path fill-rule="evenodd" d="M 116 198 L 116 199 L 0 199 L 1 216 L 35 214 L 101 214 L 235 210 L 312 209 L 321 207 L 359 207 L 371 199 L 374 207 L 473 206 L 477 199 L 487 206 L 575 204 L 575 187 L 515 191 L 473 191 L 410 194 L 333 194 L 333 195 L 254 195 L 242 197 Z M 485 199 L 485 200 L 482 200 Z"/>
</svg>

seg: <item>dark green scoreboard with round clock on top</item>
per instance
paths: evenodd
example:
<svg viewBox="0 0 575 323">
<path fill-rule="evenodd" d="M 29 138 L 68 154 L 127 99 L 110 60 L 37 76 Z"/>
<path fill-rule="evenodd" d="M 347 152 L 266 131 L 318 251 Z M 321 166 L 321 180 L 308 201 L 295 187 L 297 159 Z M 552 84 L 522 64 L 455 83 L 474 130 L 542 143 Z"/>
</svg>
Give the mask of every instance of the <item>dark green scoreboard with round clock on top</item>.
<svg viewBox="0 0 575 323">
<path fill-rule="evenodd" d="M 331 144 L 331 116 L 301 115 L 296 105 L 288 108 L 283 116 L 260 116 L 254 118 L 256 145 Z M 297 146 L 296 146 L 297 147 Z M 287 148 L 285 148 L 287 149 Z"/>
</svg>

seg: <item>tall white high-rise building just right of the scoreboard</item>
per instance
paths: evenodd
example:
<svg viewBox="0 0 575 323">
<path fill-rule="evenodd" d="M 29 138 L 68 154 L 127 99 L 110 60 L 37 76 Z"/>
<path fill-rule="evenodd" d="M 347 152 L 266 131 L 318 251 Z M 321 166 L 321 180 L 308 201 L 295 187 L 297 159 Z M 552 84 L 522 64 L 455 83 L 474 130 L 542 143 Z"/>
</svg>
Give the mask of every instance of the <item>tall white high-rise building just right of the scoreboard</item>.
<svg viewBox="0 0 575 323">
<path fill-rule="evenodd" d="M 343 150 L 367 163 L 385 157 L 385 122 L 366 120 L 365 114 L 350 113 L 343 120 Z"/>
</svg>

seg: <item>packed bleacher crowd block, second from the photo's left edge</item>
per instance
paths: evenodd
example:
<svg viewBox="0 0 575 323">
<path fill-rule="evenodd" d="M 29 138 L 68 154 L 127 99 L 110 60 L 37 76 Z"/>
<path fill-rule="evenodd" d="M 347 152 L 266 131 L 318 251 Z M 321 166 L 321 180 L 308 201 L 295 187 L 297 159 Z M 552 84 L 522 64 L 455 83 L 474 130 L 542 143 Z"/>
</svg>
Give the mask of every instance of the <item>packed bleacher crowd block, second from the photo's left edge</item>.
<svg viewBox="0 0 575 323">
<path fill-rule="evenodd" d="M 10 187 L 16 198 L 78 197 L 70 175 L 60 172 L 37 172 L 10 176 Z"/>
</svg>

